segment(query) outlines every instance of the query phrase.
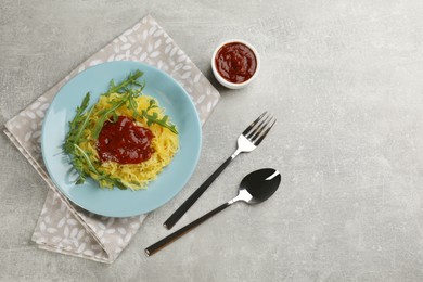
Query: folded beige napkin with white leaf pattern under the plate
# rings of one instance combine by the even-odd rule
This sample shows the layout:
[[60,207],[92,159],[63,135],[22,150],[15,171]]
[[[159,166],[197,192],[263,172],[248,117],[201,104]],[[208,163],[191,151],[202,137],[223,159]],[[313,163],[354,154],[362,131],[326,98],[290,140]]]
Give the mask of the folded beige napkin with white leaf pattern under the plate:
[[53,184],[41,156],[42,119],[60,88],[87,67],[123,60],[144,62],[172,76],[190,94],[203,124],[219,100],[219,93],[206,77],[148,15],[10,119],[5,124],[5,134],[50,188],[33,235],[33,241],[40,248],[111,264],[128,245],[145,218],[145,215],[101,217],[74,205]]

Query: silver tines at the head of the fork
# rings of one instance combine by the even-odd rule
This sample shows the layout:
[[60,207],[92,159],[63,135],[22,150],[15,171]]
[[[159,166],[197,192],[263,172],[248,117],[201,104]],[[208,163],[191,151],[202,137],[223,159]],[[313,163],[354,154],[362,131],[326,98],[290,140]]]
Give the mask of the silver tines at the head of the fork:
[[277,123],[277,119],[266,111],[242,134],[255,145],[258,145],[273,127],[274,123]]

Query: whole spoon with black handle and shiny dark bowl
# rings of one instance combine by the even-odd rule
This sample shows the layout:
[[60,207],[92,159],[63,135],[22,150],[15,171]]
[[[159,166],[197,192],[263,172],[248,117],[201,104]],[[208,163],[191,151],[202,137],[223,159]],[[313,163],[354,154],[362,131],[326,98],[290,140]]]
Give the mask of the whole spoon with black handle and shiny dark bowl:
[[277,192],[279,184],[281,183],[281,175],[273,168],[262,168],[253,171],[244,177],[239,188],[239,194],[231,201],[220,205],[219,207],[208,211],[204,216],[197,218],[183,228],[175,231],[170,235],[162,239],[157,243],[145,248],[145,255],[151,256],[157,253],[163,247],[172,243],[177,239],[181,238],[195,227],[206,221],[211,216],[229,207],[233,203],[244,202],[248,205],[259,204],[268,200],[274,192]]

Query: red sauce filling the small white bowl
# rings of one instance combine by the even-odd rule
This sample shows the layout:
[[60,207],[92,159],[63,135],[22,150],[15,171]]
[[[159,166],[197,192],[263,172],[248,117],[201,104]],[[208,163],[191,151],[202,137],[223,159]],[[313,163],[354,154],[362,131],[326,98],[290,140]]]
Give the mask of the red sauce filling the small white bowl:
[[216,69],[229,82],[242,84],[254,75],[257,59],[252,49],[241,42],[222,46],[216,53]]

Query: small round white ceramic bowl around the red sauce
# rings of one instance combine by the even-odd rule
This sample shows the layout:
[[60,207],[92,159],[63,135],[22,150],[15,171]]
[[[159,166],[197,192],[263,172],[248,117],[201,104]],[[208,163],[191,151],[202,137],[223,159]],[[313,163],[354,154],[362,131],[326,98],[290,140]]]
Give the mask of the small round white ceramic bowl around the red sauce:
[[[217,70],[216,61],[215,61],[216,54],[220,50],[220,48],[222,48],[225,44],[235,43],[235,42],[240,42],[240,43],[248,47],[253,51],[254,55],[256,56],[256,63],[257,63],[256,70],[254,72],[253,76],[248,80],[245,80],[244,82],[241,82],[241,84],[231,82],[231,81],[228,81],[227,79],[225,79]],[[216,48],[215,52],[211,55],[211,69],[213,69],[213,74],[215,75],[215,77],[216,77],[217,81],[219,81],[219,84],[221,84],[222,86],[230,88],[230,89],[241,89],[241,88],[244,88],[247,85],[249,85],[257,77],[258,72],[260,70],[260,57],[258,55],[257,50],[251,43],[248,43],[244,40],[241,40],[241,39],[231,39],[231,40],[222,42],[221,44],[219,44]]]

